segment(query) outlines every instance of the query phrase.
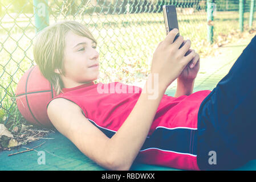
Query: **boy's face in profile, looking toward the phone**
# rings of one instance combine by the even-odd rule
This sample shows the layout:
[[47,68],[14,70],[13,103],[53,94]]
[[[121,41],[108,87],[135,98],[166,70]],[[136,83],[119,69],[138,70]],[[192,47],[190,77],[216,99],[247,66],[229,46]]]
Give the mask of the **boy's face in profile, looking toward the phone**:
[[71,88],[82,85],[84,82],[94,81],[99,76],[99,52],[96,43],[84,36],[67,32],[64,47],[65,76],[61,76],[64,86]]

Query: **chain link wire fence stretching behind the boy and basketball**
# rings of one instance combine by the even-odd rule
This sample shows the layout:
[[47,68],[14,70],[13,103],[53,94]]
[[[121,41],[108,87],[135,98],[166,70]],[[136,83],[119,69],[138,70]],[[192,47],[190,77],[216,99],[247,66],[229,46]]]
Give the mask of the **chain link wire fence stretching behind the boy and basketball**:
[[[207,2],[214,5],[212,10],[216,12],[212,23],[208,20]],[[239,2],[0,0],[0,123],[14,127],[14,123],[22,119],[14,92],[23,73],[35,65],[32,46],[36,32],[48,24],[67,19],[86,24],[97,40],[100,53],[97,82],[120,81],[136,85],[149,74],[153,52],[166,36],[163,5],[176,5],[180,34],[192,40],[192,48],[198,53],[207,55],[208,27],[214,27],[214,43],[220,41],[218,35],[229,35],[237,30]],[[255,10],[252,2],[243,1],[245,22],[251,19],[251,9]],[[44,18],[40,19],[42,14]]]

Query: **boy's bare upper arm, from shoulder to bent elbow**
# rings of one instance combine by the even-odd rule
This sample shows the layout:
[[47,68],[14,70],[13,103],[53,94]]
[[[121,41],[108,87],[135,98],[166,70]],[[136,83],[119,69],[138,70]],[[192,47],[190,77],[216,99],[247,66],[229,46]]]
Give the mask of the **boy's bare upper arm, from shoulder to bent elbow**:
[[55,98],[48,105],[47,114],[55,128],[84,155],[101,167],[116,168],[107,153],[109,138],[84,117],[78,105],[64,98]]

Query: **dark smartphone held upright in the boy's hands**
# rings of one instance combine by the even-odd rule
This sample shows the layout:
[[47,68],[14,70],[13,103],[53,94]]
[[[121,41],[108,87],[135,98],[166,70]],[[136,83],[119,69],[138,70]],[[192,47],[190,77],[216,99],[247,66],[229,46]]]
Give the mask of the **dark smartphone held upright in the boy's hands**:
[[[169,31],[173,30],[173,28],[178,29],[176,7],[174,5],[164,5],[162,6],[162,12],[164,13],[164,23],[165,23],[165,30],[167,35]],[[173,42],[178,38],[178,36],[180,36],[180,33],[176,35]]]

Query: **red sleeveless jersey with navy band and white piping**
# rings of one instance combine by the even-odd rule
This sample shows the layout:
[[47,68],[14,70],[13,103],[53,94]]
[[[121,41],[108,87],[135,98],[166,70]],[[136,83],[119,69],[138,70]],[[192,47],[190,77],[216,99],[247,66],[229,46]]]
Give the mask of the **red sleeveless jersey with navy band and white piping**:
[[[111,138],[131,113],[142,89],[121,82],[91,82],[63,88],[62,91],[48,104],[55,98],[74,102],[88,121]],[[201,102],[210,92],[202,90],[177,98],[164,94],[135,162],[198,170],[195,146],[197,114]]]

